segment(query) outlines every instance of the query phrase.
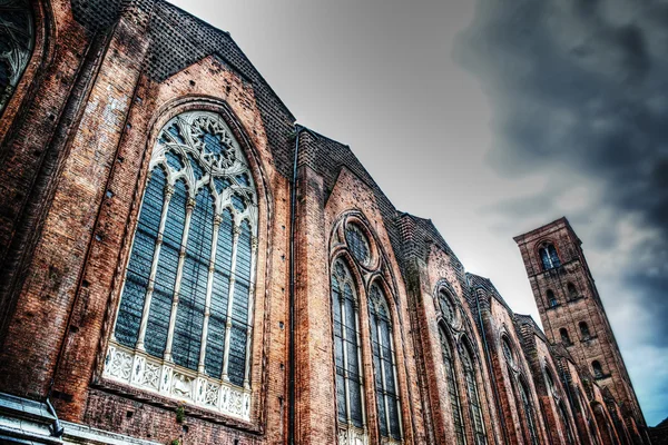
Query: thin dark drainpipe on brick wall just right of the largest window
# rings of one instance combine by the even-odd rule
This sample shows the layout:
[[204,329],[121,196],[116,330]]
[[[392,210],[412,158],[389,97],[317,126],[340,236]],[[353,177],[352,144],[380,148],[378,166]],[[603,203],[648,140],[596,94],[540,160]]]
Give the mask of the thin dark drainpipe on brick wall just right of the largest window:
[[287,443],[295,443],[295,219],[297,207],[297,160],[299,156],[299,135],[304,127],[295,125],[295,156],[289,197],[289,376],[287,379]]

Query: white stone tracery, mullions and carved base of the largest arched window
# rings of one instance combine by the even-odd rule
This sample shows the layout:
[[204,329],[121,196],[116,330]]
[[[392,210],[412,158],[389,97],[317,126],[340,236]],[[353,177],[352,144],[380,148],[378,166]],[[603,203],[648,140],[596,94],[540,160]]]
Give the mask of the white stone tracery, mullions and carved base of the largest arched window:
[[[144,189],[141,205],[139,206],[138,226],[141,224],[141,211],[155,171],[161,171],[166,176],[166,186],[163,190],[164,201],[157,230],[159,235],[151,250],[149,285],[141,304],[141,322],[139,323],[137,342],[134,348],[119,343],[116,338],[116,329],[127,287],[127,275],[124,273],[126,278],[124,278],[120,288],[119,310],[116,313],[116,323],[107,348],[102,375],[106,378],[155,392],[169,398],[249,421],[258,231],[256,178],[253,167],[248,162],[250,154],[242,148],[226,118],[218,110],[214,111],[214,106],[195,107],[197,106],[191,105],[187,108],[186,106],[179,106],[180,109],[186,109],[186,111],[171,115],[173,117],[168,118],[166,122],[163,120],[161,122],[165,123],[155,138],[146,178],[147,186]],[[225,116],[227,117],[228,113]],[[175,130],[170,132],[171,129]],[[176,161],[175,156],[180,160]],[[218,181],[220,178],[228,178],[229,180],[223,185],[222,181]],[[149,295],[155,291],[158,283],[160,283],[160,277],[157,275],[159,275],[161,267],[161,250],[166,245],[167,235],[165,230],[170,219],[169,208],[170,206],[174,207],[171,202],[175,195],[178,196],[177,189],[179,187],[185,190],[185,220],[180,241],[175,241],[175,247],[178,250],[178,266],[175,284],[170,285],[173,286],[170,287],[173,300],[169,308],[167,342],[163,356],[157,357],[145,347],[148,338],[153,337],[153,335],[149,335],[149,325],[154,306]],[[199,255],[203,250],[190,251],[190,244],[188,243],[195,237],[188,231],[193,231],[194,227],[198,227],[196,224],[199,224],[194,221],[197,218],[202,219],[202,212],[198,212],[197,208],[198,199],[204,196],[203,194],[213,199],[210,214],[208,210],[205,212],[205,228],[199,228],[199,230],[207,231],[206,226],[213,226],[209,227],[210,235],[205,236],[206,243],[203,244],[204,246],[210,246],[210,249],[205,250],[208,257],[207,255]],[[227,322],[224,322],[224,327],[219,329],[223,333],[219,333],[220,335],[216,339],[210,337],[214,335],[210,320],[216,316],[216,308],[213,307],[215,305],[212,300],[215,275],[219,271],[217,265],[218,254],[227,251],[220,249],[219,246],[223,237],[220,227],[224,225],[226,212],[230,215],[228,235],[232,239],[229,247],[232,251],[228,251],[228,256],[232,257],[232,265],[228,266],[229,270],[227,271],[228,281],[225,290],[227,299],[224,305]],[[131,253],[135,251],[138,230],[137,227],[130,244]],[[239,246],[244,246],[243,249]],[[240,254],[242,251],[243,254]],[[184,304],[183,298],[179,298],[179,293],[181,291],[180,287],[184,286],[184,279],[186,279],[184,270],[187,267],[188,257],[193,258],[190,261],[200,263],[200,266],[197,266],[197,274],[202,276],[203,280],[199,290],[188,285],[190,286],[189,290],[195,296],[194,298],[200,298],[203,294],[205,295],[199,307],[190,310],[197,313],[197,317],[200,316],[200,322],[196,322],[196,329],[200,333],[200,336],[196,345],[197,349],[194,349],[193,353],[198,352],[195,366],[175,364],[171,354],[175,337],[179,335],[177,318],[179,317],[180,305]],[[129,256],[126,271],[130,268],[132,254]],[[180,322],[181,327],[186,326],[188,330],[191,330],[193,317],[187,317],[186,309],[183,313],[186,314],[186,319]],[[209,352],[212,345],[218,345],[219,348],[222,346],[223,349],[220,375],[209,375],[210,364],[207,363],[207,356],[213,354],[213,350]],[[233,363],[234,374],[232,373]]]

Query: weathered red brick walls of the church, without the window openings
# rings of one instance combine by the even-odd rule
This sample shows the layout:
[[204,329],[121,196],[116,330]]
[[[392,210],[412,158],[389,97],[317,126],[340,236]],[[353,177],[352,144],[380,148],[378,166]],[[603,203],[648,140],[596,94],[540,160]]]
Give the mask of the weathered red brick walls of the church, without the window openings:
[[[0,121],[0,393],[52,403],[66,443],[79,427],[163,444],[337,443],[338,258],[360,297],[367,443],[392,443],[379,428],[371,284],[387,296],[401,443],[451,444],[458,434],[470,444],[640,443],[640,408],[620,383],[621,356],[567,224],[554,243],[573,257],[562,268],[586,295],[553,309],[561,318],[538,297],[548,279],[532,273],[541,237],[521,243],[543,334],[466,274],[431,221],[395,209],[347,146],[295,126],[226,32],[159,0],[30,7],[35,50]],[[223,118],[257,191],[247,418],[105,374],[151,152],[165,123],[191,110]],[[367,238],[369,265],[351,254],[350,225]],[[605,326],[593,355],[557,334],[583,313]],[[582,365],[591,357],[611,377],[593,379]],[[2,428],[2,438],[19,435]]]

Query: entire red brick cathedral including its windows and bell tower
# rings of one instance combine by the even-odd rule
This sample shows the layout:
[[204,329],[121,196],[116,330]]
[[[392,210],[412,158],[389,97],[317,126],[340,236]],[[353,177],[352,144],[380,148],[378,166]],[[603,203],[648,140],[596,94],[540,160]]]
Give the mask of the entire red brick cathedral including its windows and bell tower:
[[161,0],[0,1],[0,442],[648,444],[580,240],[544,332]]

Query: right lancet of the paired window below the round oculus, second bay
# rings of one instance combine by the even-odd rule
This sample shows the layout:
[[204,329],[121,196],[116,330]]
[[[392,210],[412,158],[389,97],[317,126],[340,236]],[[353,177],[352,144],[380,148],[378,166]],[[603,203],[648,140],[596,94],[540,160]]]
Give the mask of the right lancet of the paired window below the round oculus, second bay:
[[376,406],[381,436],[401,441],[401,403],[396,380],[396,358],[392,320],[385,294],[377,284],[369,291],[369,322],[375,375]]

